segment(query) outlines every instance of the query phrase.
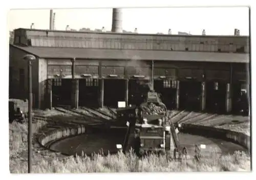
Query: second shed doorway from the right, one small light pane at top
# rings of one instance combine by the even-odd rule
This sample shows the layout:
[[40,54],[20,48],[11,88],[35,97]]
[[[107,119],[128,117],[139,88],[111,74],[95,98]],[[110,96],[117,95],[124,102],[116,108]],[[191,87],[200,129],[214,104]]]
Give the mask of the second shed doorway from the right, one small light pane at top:
[[226,112],[226,90],[224,82],[206,82],[206,111],[211,113]]

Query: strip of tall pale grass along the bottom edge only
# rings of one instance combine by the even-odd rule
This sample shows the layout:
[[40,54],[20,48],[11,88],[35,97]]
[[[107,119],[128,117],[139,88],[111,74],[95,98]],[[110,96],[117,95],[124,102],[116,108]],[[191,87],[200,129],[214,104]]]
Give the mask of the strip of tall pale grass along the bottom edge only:
[[[114,156],[68,158],[65,161],[53,159],[51,162],[41,159],[33,166],[34,173],[85,173],[85,172],[177,172],[177,171],[250,171],[249,158],[244,153],[233,156],[214,157],[200,163],[167,162],[164,157],[150,156],[142,160],[130,153]],[[13,173],[26,173],[26,166],[18,166]]]

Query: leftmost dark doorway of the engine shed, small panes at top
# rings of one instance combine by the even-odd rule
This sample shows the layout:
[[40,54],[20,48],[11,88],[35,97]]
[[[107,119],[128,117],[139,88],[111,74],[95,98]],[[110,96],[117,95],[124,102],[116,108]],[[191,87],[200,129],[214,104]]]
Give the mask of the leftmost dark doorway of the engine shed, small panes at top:
[[70,79],[54,79],[52,81],[52,105],[71,106],[72,81]]

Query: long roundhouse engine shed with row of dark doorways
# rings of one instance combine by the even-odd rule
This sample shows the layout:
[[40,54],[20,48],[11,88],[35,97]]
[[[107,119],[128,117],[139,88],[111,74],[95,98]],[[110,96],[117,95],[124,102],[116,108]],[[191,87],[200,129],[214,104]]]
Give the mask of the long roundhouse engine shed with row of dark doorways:
[[249,101],[248,36],[182,36],[17,29],[10,44],[10,98],[33,106],[117,107],[135,104],[151,82],[168,109],[236,112]]

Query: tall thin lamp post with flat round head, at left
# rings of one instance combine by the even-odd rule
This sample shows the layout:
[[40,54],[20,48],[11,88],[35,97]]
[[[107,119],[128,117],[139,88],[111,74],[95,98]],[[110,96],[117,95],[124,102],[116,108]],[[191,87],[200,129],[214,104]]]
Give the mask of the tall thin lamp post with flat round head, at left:
[[28,61],[28,86],[29,86],[29,124],[28,124],[28,173],[32,170],[32,61],[36,58],[34,55],[26,55],[23,57]]

